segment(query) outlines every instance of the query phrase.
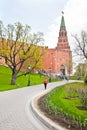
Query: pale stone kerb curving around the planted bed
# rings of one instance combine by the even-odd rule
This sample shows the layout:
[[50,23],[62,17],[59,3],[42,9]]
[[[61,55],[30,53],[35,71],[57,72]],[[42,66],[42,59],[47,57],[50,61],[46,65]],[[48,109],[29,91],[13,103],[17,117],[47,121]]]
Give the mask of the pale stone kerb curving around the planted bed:
[[50,90],[46,90],[44,93],[34,97],[30,103],[31,105],[31,109],[33,111],[33,113],[35,114],[35,116],[45,125],[47,126],[50,130],[67,130],[66,128],[54,123],[51,119],[49,119],[48,117],[46,117],[44,115],[44,113],[39,109],[37,102],[39,100],[40,97],[42,97],[43,95],[47,94],[48,92],[50,92],[52,89]]

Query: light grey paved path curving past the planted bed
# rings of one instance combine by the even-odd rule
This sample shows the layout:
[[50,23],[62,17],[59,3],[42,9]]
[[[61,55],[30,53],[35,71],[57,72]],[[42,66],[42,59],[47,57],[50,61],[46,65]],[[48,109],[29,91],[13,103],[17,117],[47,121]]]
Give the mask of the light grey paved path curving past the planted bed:
[[[66,81],[49,83],[47,89]],[[42,93],[44,86],[36,85],[0,92],[0,130],[49,130],[32,113],[30,101]]]

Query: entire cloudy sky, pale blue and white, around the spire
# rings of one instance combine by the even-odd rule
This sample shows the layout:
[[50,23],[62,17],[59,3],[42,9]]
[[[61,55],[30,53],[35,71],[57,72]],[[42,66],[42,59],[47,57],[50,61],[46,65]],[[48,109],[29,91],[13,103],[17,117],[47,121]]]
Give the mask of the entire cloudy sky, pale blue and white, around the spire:
[[45,45],[57,45],[57,37],[64,11],[70,46],[71,34],[87,29],[87,0],[0,0],[0,20],[4,24],[29,24],[34,32],[43,32]]

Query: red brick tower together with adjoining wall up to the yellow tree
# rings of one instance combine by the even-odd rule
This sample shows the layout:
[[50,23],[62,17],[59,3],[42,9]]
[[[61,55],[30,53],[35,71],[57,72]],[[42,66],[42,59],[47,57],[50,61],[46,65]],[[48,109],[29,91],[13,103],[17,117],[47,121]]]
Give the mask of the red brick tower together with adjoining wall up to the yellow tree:
[[56,48],[47,49],[43,56],[44,70],[60,74],[72,73],[72,52],[69,46],[64,16],[62,15]]

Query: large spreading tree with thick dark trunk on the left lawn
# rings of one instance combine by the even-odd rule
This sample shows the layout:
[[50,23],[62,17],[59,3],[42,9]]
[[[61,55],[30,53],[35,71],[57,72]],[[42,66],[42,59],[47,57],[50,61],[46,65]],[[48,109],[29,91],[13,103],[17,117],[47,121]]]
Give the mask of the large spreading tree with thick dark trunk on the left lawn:
[[[19,22],[4,27],[3,22],[0,21],[0,56],[4,58],[5,64],[12,70],[12,85],[16,83],[18,77],[25,74],[19,74],[21,68],[26,61],[31,64],[31,59],[35,59],[37,53],[37,45],[43,43],[43,34],[40,32],[32,34],[30,30],[29,25],[23,26]],[[36,58],[37,62],[33,63],[33,69],[39,63],[41,55],[39,53],[39,59]]]

